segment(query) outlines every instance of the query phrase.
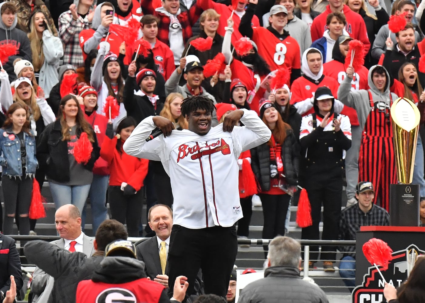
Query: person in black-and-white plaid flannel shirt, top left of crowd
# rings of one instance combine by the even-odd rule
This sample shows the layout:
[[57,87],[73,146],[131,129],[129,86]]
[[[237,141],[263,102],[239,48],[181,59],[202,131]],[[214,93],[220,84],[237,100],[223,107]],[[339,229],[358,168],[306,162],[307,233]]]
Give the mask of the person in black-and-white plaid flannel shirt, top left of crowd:
[[59,38],[64,45],[64,65],[79,67],[84,63],[78,35],[82,30],[90,28],[94,14],[93,3],[93,0],[78,1],[77,6],[71,4],[69,10],[59,16]]

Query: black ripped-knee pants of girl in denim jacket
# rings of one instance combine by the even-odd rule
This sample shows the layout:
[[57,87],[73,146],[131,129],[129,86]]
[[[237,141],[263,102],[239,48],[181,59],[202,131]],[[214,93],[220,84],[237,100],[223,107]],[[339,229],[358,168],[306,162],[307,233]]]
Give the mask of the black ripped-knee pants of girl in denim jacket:
[[[8,215],[19,214],[27,215],[26,217],[18,216],[19,223],[23,222],[23,227],[20,228],[21,235],[29,234],[29,206],[31,204],[31,194],[32,194],[32,179],[25,178],[9,178],[8,176],[3,176],[1,180],[1,185],[3,188],[4,195],[4,226],[3,232],[5,235],[10,235],[13,227],[13,218]],[[27,222],[28,221],[28,222]],[[19,228],[19,227],[18,227]]]

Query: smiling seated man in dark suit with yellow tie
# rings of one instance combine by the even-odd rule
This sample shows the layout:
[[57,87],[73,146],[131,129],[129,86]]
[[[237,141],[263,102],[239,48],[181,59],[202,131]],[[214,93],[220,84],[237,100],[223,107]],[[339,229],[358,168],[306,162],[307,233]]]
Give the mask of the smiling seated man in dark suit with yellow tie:
[[[171,228],[173,227],[173,211],[167,205],[156,204],[150,208],[147,221],[150,228],[155,232],[155,236],[138,244],[136,255],[139,260],[144,261],[144,271],[147,277],[168,287],[168,263],[166,261]],[[161,244],[162,242],[164,244]],[[164,248],[162,248],[163,246]],[[162,255],[162,263],[160,255]]]

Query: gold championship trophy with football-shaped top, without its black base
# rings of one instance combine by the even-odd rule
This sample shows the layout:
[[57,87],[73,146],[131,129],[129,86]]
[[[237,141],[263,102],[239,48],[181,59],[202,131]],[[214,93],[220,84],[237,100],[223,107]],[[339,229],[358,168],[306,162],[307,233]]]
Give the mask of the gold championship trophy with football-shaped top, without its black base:
[[397,179],[402,184],[412,183],[419,120],[419,110],[409,99],[398,98],[391,106]]

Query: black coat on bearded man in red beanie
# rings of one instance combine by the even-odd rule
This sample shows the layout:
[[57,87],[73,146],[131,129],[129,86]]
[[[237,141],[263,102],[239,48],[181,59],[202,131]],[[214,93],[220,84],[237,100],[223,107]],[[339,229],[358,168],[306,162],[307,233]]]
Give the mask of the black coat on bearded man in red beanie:
[[133,117],[139,124],[146,117],[159,115],[164,108],[164,102],[159,98],[156,101],[155,108],[147,96],[136,96],[134,94],[136,87],[136,77],[128,76],[125,80],[123,103],[127,116]]

